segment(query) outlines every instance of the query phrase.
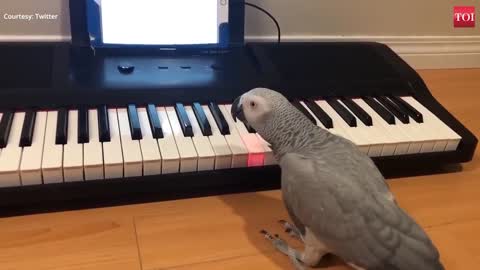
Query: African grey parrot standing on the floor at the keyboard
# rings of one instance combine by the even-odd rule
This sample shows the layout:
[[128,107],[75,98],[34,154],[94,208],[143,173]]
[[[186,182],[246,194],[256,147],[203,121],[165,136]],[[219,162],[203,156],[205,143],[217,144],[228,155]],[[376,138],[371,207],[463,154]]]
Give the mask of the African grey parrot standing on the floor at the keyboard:
[[318,265],[326,253],[355,269],[444,269],[427,234],[351,141],[316,126],[282,94],[266,88],[239,96],[231,114],[271,145],[281,168],[282,198],[293,224],[281,223],[305,249],[262,233],[297,269]]

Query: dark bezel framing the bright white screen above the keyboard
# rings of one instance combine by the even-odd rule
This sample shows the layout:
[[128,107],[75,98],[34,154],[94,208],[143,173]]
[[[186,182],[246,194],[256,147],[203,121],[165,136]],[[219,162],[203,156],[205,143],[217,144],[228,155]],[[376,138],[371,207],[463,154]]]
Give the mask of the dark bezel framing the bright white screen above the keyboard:
[[[74,0],[73,0],[74,1]],[[238,23],[231,22],[231,19],[238,19],[238,14],[242,14],[242,18],[244,15],[244,9],[238,9],[238,4],[241,2],[243,6],[243,1],[238,0],[217,0],[217,12],[218,12],[218,42],[217,43],[209,43],[209,44],[112,44],[112,43],[103,43],[102,40],[102,23],[101,23],[101,11],[100,7],[96,3],[95,0],[84,0],[85,6],[83,7],[84,16],[76,16],[72,17],[73,19],[79,19],[78,17],[84,18],[84,26],[86,29],[82,29],[79,34],[87,35],[88,38],[88,46],[93,48],[220,48],[225,49],[232,45],[232,41],[235,42],[239,40],[238,34],[241,32],[241,42],[243,43],[243,27],[238,29]],[[70,1],[72,2],[72,0]],[[82,1],[77,1],[82,2]],[[225,3],[225,4],[223,4]],[[232,9],[232,6],[237,6],[235,9]],[[82,9],[80,8],[80,11]],[[70,7],[70,11],[72,12],[72,7]],[[78,11],[78,9],[77,9]],[[233,13],[232,13],[233,11]],[[223,16],[220,16],[223,14]],[[243,22],[243,19],[242,19]],[[73,23],[73,21],[72,21]],[[82,23],[77,22],[77,25],[82,25]],[[235,26],[237,29],[232,29],[232,26]],[[77,26],[76,29],[79,27]],[[72,24],[72,41],[73,41],[73,29],[74,25]],[[239,31],[240,30],[240,31]],[[233,34],[233,36],[232,36]],[[85,39],[83,43],[85,43]],[[84,44],[86,45],[86,44]]]

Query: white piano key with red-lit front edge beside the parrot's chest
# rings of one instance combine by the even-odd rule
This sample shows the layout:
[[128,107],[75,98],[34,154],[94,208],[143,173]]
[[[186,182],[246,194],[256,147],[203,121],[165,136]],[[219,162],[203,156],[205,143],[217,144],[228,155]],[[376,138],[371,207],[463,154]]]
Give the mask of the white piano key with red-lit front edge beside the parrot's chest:
[[[232,105],[227,104],[225,105],[225,108],[230,112]],[[242,138],[244,145],[248,149],[248,167],[263,166],[265,161],[265,149],[258,139],[257,134],[249,133],[242,121],[238,119],[234,123],[240,138]]]

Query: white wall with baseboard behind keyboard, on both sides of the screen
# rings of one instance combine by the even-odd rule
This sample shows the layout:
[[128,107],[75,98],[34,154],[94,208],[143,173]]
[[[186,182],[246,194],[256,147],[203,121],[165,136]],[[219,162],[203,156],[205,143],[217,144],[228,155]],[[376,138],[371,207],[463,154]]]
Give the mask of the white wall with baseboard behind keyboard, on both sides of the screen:
[[[68,0],[0,0],[0,40],[69,39]],[[79,0],[80,1],[80,0]],[[480,67],[478,0],[249,0],[278,19],[285,40],[374,40],[418,68]],[[453,27],[453,6],[476,6],[475,28]],[[57,14],[9,21],[4,14]],[[247,7],[248,39],[274,39],[268,17]]]

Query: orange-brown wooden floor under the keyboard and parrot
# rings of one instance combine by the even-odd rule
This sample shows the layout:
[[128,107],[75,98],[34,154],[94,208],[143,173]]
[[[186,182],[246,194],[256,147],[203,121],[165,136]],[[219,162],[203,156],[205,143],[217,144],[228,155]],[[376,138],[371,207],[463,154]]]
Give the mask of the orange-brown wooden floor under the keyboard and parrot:
[[[480,70],[420,74],[479,136]],[[389,181],[450,270],[480,265],[479,152],[461,172]],[[259,234],[280,233],[285,218],[278,191],[5,218],[0,269],[293,269]],[[335,259],[326,266],[349,269]]]

